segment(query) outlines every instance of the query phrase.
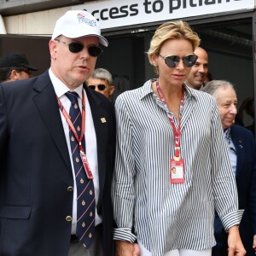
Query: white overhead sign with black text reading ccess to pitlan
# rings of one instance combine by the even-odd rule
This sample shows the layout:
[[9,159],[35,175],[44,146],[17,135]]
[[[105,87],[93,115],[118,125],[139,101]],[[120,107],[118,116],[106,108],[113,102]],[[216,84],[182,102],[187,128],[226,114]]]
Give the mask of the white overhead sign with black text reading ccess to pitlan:
[[89,11],[102,29],[253,8],[254,0],[106,0],[72,7]]

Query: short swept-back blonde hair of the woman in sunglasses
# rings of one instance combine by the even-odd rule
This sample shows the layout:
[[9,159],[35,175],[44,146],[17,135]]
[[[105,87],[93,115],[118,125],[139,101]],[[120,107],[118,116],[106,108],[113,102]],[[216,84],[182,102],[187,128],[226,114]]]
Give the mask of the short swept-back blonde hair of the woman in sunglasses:
[[[161,46],[168,39],[186,39],[192,44],[193,50],[199,46],[201,39],[196,32],[193,32],[189,24],[182,20],[169,21],[159,26],[154,32],[148,49],[148,60],[154,66],[151,60],[152,55],[159,55]],[[158,74],[158,67],[154,66],[155,73]]]

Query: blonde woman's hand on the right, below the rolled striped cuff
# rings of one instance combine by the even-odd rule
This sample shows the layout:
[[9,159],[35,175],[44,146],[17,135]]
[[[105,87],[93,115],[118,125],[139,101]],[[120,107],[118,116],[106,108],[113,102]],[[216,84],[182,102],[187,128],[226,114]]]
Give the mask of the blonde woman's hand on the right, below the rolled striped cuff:
[[233,226],[229,230],[228,237],[229,256],[244,256],[247,252],[242,245],[238,226]]

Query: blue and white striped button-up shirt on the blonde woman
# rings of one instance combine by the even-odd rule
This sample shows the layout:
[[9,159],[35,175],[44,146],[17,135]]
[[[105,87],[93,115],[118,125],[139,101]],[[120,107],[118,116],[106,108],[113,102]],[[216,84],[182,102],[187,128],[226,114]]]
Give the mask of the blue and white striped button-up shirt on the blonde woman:
[[151,80],[115,102],[114,239],[133,242],[137,237],[154,256],[176,248],[211,248],[214,210],[226,230],[240,223],[243,212],[238,211],[236,181],[216,103],[206,93],[184,88],[183,184],[170,182],[173,131]]

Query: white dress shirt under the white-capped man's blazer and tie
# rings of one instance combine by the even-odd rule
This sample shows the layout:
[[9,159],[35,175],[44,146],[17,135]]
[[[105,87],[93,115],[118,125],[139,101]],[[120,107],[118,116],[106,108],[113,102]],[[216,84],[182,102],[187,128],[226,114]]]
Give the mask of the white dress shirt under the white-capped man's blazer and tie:
[[[63,84],[60,79],[55,77],[55,74],[49,69],[49,78],[51,79],[51,82],[55,89],[56,96],[59,97],[62,106],[66,109],[67,113],[69,113],[69,108],[71,106],[70,100],[67,98],[65,93],[69,91],[70,89],[67,87],[66,84]],[[83,90],[83,84],[81,84],[79,87],[77,87],[74,91],[76,91],[79,95],[79,108],[82,109],[82,90]],[[86,148],[86,156],[90,165],[90,169],[92,172],[92,175],[94,177],[93,183],[94,183],[94,189],[95,189],[95,195],[96,195],[96,205],[98,202],[99,194],[100,194],[100,184],[99,184],[99,177],[98,177],[98,161],[97,161],[97,148],[96,148],[96,131],[93,124],[93,119],[90,111],[90,104],[88,102],[88,98],[86,96],[86,92],[84,90],[84,98],[85,98],[85,131],[84,131],[84,138],[85,138],[85,148]],[[65,137],[67,140],[67,148],[68,153],[70,157],[70,161],[72,163],[72,171],[73,171],[73,218],[72,218],[72,234],[75,234],[76,227],[77,227],[77,185],[76,185],[76,179],[73,169],[73,157],[71,153],[71,147],[69,143],[69,126],[67,124],[67,120],[65,119],[64,115],[61,114],[61,120],[63,129],[65,132]],[[95,219],[95,225],[102,223],[102,218],[97,214],[96,211],[96,219]]]

